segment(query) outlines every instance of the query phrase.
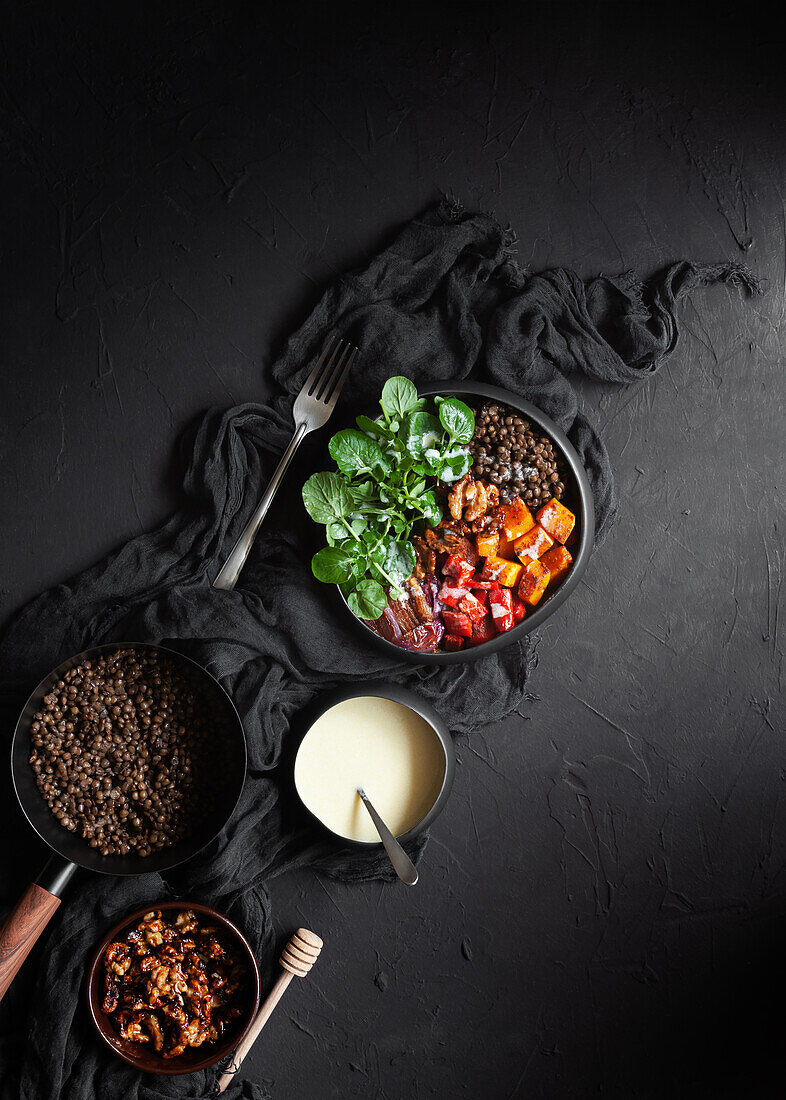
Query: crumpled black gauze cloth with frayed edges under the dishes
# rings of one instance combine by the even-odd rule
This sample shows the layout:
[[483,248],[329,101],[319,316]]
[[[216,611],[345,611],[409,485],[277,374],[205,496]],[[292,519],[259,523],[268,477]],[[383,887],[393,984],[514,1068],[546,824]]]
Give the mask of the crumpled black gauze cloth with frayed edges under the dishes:
[[[337,332],[361,350],[332,422],[314,437],[315,469],[330,466],[331,432],[352,424],[356,411],[373,410],[390,375],[416,382],[477,376],[521,394],[567,432],[595,494],[599,544],[617,509],[613,479],[602,441],[578,410],[569,374],[641,381],[675,346],[679,298],[719,280],[755,289],[748,272],[733,264],[679,263],[647,286],[630,276],[584,283],[563,270],[529,275],[516,266],[512,244],[510,231],[494,218],[465,215],[447,201],[408,224],[365,271],[339,279],[291,337],[273,369],[284,391],[273,407],[248,404],[206,414],[190,437],[182,510],[40,596],[11,624],[0,645],[7,697],[23,697],[60,661],[101,642],[146,640],[187,652],[234,698],[250,769],[221,838],[165,881],[157,875],[106,879],[82,872],[71,880],[44,933],[43,957],[29,961],[32,972],[23,972],[2,1005],[3,1100],[210,1094],[214,1071],[137,1074],[91,1031],[85,966],[124,913],[170,894],[208,902],[226,912],[270,964],[266,883],[274,876],[305,865],[344,880],[389,873],[377,855],[331,845],[291,804],[288,761],[277,765],[292,721],[317,693],[370,675],[389,679],[433,703],[455,733],[496,722],[522,702],[533,666],[531,637],[449,668],[413,668],[369,648],[335,591],[311,576],[321,529],[305,515],[302,479],[295,471],[279,493],[286,504],[268,517],[237,588],[211,587],[291,436],[292,395],[328,336]],[[12,728],[7,722],[5,729]],[[19,886],[2,883],[7,908]],[[268,1094],[242,1077],[241,1070],[229,1098]]]

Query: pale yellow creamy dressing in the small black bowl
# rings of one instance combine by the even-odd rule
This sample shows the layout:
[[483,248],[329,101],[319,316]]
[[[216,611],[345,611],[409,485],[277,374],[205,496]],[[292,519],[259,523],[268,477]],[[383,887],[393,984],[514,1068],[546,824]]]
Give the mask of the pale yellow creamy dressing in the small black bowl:
[[358,787],[400,836],[425,817],[444,774],[445,752],[429,723],[401,703],[370,695],[325,711],[295,761],[295,785],[306,807],[350,840],[379,839]]

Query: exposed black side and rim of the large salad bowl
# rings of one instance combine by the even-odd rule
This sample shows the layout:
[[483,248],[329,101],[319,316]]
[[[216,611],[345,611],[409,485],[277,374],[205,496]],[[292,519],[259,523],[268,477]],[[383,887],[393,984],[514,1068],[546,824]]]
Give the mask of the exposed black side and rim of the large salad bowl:
[[562,497],[562,503],[576,517],[576,526],[571,536],[569,544],[569,550],[573,554],[573,565],[565,580],[551,594],[546,590],[546,594],[535,609],[528,612],[527,617],[518,626],[514,626],[505,634],[498,634],[496,638],[485,641],[481,646],[460,649],[451,653],[417,653],[409,649],[401,649],[386,638],[380,638],[369,626],[366,626],[363,619],[357,618],[350,610],[350,605],[343,592],[339,588],[339,595],[346,608],[346,614],[357,625],[358,630],[363,631],[369,645],[375,646],[377,649],[384,649],[391,658],[406,661],[409,664],[458,664],[462,661],[474,661],[478,657],[487,657],[489,653],[496,653],[514,641],[521,641],[524,635],[528,635],[531,630],[536,630],[538,627],[542,626],[565,603],[580,581],[593,551],[593,539],[595,537],[593,491],[589,487],[589,481],[582,465],[582,460],[565,432],[545,413],[525,402],[523,397],[511,394],[509,389],[500,389],[498,386],[487,386],[483,382],[436,382],[428,386],[418,386],[418,393],[422,397],[429,397],[433,394],[445,394],[453,397],[468,398],[471,404],[477,404],[477,398],[500,402],[527,417],[531,424],[536,425],[538,428],[549,436],[558,452],[558,457],[564,462],[565,493]]

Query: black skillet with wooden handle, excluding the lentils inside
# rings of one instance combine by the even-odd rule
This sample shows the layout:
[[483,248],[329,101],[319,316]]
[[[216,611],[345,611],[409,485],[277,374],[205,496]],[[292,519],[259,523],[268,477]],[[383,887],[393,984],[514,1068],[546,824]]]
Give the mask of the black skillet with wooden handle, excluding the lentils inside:
[[[146,649],[166,653],[178,663],[188,666],[197,680],[201,681],[204,691],[218,693],[226,706],[226,735],[217,740],[214,757],[217,773],[221,773],[224,780],[217,784],[217,789],[221,792],[220,799],[212,811],[199,821],[190,835],[170,848],[145,857],[102,856],[95,848],[90,848],[81,837],[63,828],[38,793],[33,769],[29,762],[30,727],[44,695],[48,695],[57,681],[76,664],[119,649]],[[150,871],[167,871],[185,862],[215,839],[232,816],[243,789],[245,769],[245,734],[232,700],[218,680],[182,653],[145,642],[112,642],[77,653],[49,672],[25,703],[16,723],[11,744],[11,778],[22,812],[44,844],[53,849],[54,855],[41,875],[27,887],[0,927],[0,999],[59,905],[63,890],[77,867],[101,875],[146,875]]]

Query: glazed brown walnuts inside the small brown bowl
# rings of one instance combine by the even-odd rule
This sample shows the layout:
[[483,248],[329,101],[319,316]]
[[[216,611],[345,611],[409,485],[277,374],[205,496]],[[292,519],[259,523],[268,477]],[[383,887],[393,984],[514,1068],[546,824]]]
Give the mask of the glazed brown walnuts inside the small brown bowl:
[[242,1015],[245,970],[218,930],[191,910],[145,913],[103,953],[103,1011],[121,1038],[164,1058],[215,1043]]

